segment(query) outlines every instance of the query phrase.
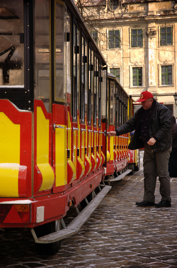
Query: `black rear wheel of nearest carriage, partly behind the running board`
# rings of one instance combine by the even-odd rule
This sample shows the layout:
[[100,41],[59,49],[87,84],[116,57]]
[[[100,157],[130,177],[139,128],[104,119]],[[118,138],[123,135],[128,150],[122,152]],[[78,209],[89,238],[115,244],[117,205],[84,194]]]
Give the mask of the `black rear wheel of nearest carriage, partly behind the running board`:
[[[34,228],[37,237],[41,237],[50,233],[54,233],[56,231],[59,231],[60,229],[61,229],[60,219]],[[53,254],[56,254],[58,250],[60,249],[61,240],[56,241],[54,243],[50,243],[50,244],[35,243],[35,245],[36,245],[36,249],[39,251],[40,254],[53,255]]]

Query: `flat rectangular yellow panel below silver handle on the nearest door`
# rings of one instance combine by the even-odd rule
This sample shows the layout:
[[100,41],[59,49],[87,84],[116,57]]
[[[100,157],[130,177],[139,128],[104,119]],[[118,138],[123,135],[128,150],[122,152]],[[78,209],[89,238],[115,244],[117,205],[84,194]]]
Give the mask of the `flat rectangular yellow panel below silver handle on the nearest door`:
[[56,186],[67,184],[67,130],[64,128],[55,129],[55,173]]

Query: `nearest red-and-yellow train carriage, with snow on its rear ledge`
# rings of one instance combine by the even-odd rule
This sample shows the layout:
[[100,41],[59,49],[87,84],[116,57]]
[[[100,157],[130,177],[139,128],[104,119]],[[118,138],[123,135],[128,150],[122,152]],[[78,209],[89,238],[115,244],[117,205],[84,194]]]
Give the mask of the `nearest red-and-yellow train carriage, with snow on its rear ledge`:
[[[73,1],[2,0],[0,21],[0,228],[30,228],[55,253],[111,188],[100,186],[106,61]],[[66,227],[71,205],[80,217]]]

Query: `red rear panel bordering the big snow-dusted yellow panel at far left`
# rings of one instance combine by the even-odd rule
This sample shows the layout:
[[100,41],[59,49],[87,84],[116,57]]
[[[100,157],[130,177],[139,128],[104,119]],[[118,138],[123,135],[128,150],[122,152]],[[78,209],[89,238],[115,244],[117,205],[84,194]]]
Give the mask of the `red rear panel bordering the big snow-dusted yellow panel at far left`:
[[[21,112],[9,100],[0,100],[0,111],[14,123],[20,124],[20,167],[18,193],[20,197],[31,196],[31,148],[32,148],[32,113]],[[23,173],[24,172],[24,173]]]

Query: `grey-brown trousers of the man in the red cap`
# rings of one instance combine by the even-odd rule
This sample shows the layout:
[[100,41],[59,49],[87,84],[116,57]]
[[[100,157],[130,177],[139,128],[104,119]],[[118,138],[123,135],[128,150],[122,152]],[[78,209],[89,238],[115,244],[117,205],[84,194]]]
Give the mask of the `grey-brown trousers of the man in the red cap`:
[[157,176],[160,181],[161,200],[171,201],[170,176],[168,161],[172,147],[161,152],[152,152],[152,147],[144,144],[143,172],[144,172],[144,198],[143,201],[155,202],[155,186]]

